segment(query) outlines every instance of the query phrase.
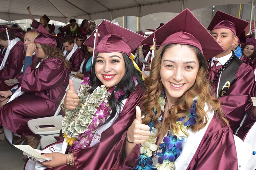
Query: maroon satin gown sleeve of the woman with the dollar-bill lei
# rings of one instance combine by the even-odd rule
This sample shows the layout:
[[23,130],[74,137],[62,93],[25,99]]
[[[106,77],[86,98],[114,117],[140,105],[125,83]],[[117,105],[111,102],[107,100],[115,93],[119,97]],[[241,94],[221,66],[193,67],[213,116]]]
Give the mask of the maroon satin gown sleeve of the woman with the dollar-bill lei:
[[122,150],[119,144],[120,139],[132,124],[135,118],[135,107],[140,105],[144,91],[144,88],[140,85],[134,88],[114,124],[101,134],[100,143],[87,149],[77,149],[74,151],[76,166],[63,165],[49,168],[49,170],[110,169]]

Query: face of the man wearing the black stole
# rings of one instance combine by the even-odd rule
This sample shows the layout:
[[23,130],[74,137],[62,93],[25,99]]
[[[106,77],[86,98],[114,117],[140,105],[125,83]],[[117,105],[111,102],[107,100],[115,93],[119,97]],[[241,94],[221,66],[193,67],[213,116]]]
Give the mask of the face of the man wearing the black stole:
[[231,53],[232,47],[236,45],[238,37],[235,34],[226,28],[219,28],[212,30],[212,37],[220,44],[220,46],[225,50],[219,55],[215,56],[220,58],[222,56],[228,55]]

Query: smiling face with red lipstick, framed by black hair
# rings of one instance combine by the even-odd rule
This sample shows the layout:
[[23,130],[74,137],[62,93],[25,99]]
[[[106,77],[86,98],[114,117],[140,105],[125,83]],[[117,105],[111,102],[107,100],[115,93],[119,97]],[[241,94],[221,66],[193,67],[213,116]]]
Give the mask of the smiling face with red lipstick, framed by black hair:
[[95,63],[95,74],[108,88],[117,85],[124,77],[125,62],[121,53],[99,53]]

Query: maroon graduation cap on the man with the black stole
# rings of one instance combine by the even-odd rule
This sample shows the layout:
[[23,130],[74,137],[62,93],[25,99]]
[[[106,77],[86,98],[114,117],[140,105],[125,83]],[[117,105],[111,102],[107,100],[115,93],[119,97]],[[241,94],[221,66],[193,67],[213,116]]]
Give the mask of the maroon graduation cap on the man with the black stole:
[[249,23],[243,19],[236,18],[225,12],[217,11],[212,22],[208,26],[208,30],[226,28],[231,30],[235,36],[240,35]]

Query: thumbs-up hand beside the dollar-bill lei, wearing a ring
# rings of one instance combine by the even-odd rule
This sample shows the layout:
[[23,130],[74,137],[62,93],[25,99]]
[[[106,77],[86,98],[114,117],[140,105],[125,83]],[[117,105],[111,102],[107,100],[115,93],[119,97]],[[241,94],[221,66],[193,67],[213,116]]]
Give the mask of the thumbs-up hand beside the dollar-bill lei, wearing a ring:
[[64,99],[64,106],[69,110],[75,110],[79,103],[79,97],[74,89],[73,81],[69,79],[69,89]]

